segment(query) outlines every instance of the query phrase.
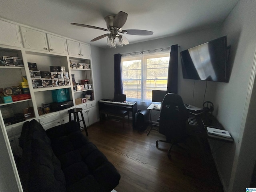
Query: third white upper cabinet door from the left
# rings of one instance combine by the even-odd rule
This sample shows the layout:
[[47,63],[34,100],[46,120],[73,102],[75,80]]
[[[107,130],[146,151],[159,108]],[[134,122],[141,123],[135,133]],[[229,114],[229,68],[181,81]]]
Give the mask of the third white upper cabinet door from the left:
[[54,53],[68,54],[66,39],[47,34],[49,51]]

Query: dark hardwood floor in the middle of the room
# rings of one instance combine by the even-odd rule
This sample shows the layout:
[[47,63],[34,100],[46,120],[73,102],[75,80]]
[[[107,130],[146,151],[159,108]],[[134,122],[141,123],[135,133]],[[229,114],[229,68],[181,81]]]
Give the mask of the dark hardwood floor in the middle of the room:
[[156,148],[164,135],[139,133],[127,120],[123,128],[122,121],[107,118],[88,127],[88,134],[120,173],[117,192],[223,192],[210,149],[200,138],[188,138],[190,156],[174,146],[169,159],[170,144],[159,142]]

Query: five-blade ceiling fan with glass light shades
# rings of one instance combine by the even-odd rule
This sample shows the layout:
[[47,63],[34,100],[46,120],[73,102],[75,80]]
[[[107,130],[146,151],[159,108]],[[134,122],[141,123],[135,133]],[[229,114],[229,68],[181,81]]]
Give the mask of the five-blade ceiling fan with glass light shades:
[[110,45],[111,48],[116,48],[116,40],[117,40],[117,46],[120,46],[120,47],[122,47],[123,45],[129,44],[128,40],[121,34],[128,34],[128,35],[152,35],[153,34],[152,31],[147,31],[147,30],[138,30],[138,29],[122,30],[122,26],[124,26],[127,20],[127,16],[128,14],[122,11],[118,12],[118,14],[116,15],[106,16],[105,21],[108,29],[85,25],[85,24],[79,24],[79,23],[71,23],[71,24],[110,32],[94,38],[93,40],[91,40],[91,42],[102,39],[107,36],[108,37],[107,45]]

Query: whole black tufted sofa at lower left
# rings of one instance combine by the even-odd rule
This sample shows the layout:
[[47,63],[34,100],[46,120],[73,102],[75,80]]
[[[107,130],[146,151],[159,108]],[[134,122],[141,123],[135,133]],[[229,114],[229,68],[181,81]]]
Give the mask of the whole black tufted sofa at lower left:
[[120,174],[72,121],[44,130],[25,122],[18,166],[24,192],[110,192]]

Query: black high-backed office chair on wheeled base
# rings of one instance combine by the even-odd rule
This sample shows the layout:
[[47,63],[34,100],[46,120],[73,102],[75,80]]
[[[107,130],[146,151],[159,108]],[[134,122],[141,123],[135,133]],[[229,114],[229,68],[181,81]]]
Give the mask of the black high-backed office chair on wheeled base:
[[[189,111],[179,95],[168,93],[164,96],[159,118],[159,132],[165,135],[166,140],[157,140],[156,147],[158,148],[158,142],[171,143],[167,153],[169,158],[173,145],[186,150],[179,143],[186,140],[186,120],[188,116]],[[188,150],[186,151],[188,152]]]

